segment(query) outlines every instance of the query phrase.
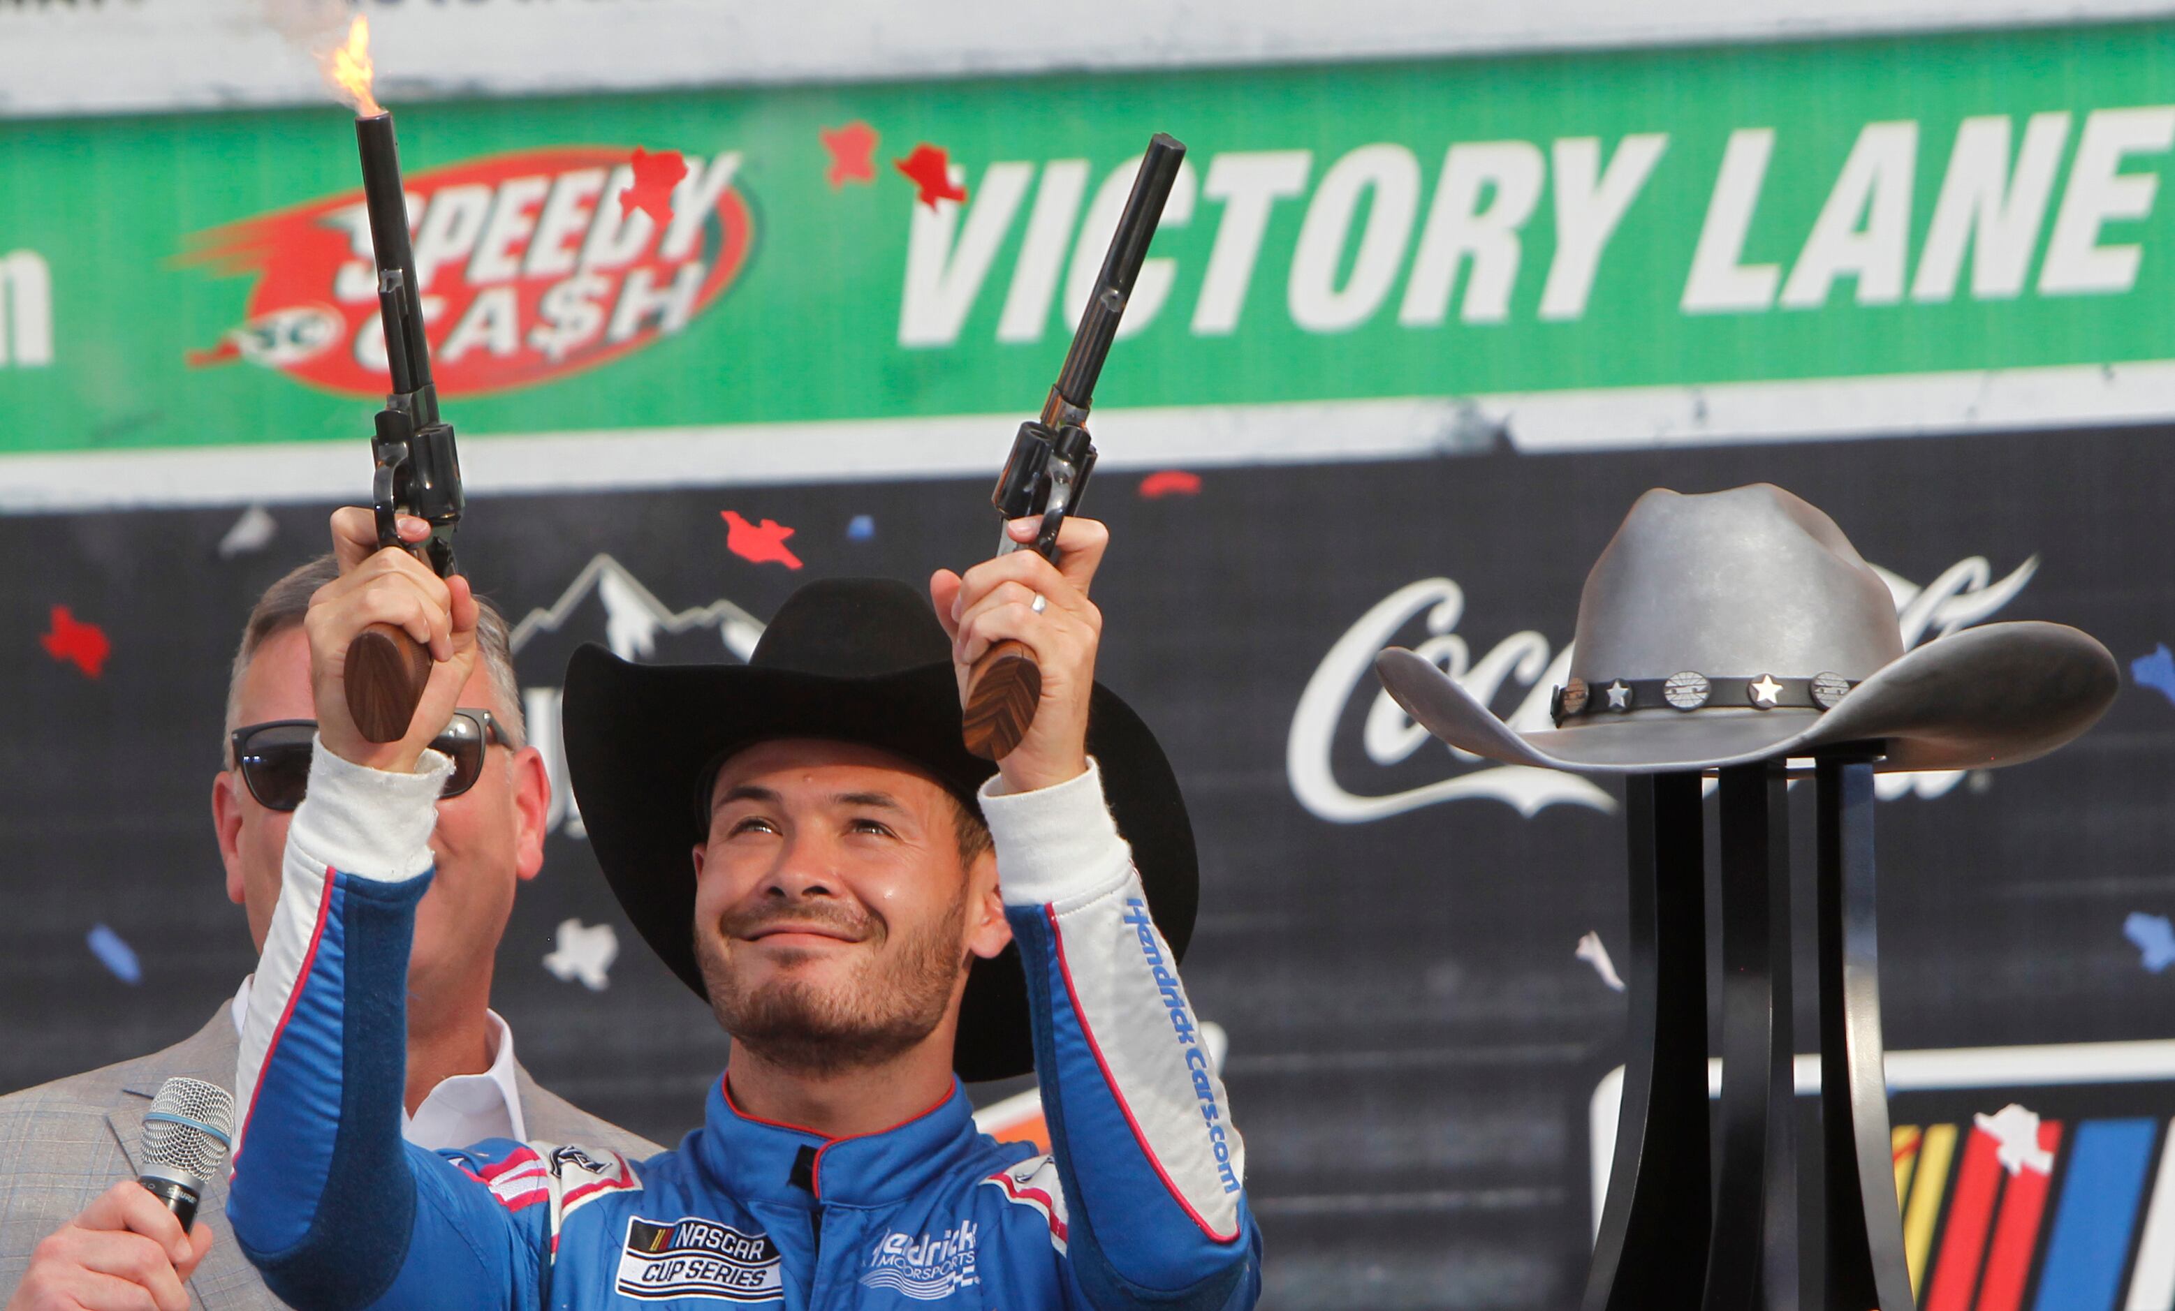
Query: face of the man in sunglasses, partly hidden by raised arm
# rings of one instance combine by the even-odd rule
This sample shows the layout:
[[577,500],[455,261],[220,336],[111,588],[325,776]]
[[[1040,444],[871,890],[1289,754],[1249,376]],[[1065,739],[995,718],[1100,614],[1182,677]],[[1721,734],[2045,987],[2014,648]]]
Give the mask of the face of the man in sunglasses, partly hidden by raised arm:
[[[461,691],[463,707],[498,713],[483,661]],[[241,676],[237,724],[313,720],[309,691],[309,637],[300,626],[257,648]],[[544,867],[544,815],[550,783],[535,748],[483,752],[483,776],[452,800],[437,802],[431,854],[437,874],[415,911],[415,948],[409,987],[415,1000],[439,996],[442,981],[489,970],[498,937],[513,911],[513,887]],[[287,811],[272,811],[250,796],[239,770],[222,770],[211,785],[211,813],[226,861],[226,898],[250,915],[250,937],[261,952],[278,902],[281,857],[287,850]]]

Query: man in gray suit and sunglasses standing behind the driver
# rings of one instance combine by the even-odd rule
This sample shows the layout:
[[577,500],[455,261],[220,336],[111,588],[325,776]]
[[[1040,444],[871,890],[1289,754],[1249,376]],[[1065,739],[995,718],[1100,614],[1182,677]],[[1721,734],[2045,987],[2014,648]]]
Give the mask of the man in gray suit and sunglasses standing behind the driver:
[[[211,785],[211,815],[226,896],[248,911],[259,950],[278,902],[287,822],[309,776],[313,698],[302,622],[311,594],[337,576],[333,557],[322,557],[265,591],[226,694],[228,752]],[[470,709],[455,717],[461,733],[439,744],[459,767],[439,802],[431,837],[437,881],[420,907],[409,961],[405,1131],[426,1148],[513,1137],[652,1157],[657,1144],[537,1087],[489,1009],[492,959],[513,891],[544,865],[550,783],[542,754],[522,744],[507,624],[489,604],[478,641],[483,661],[461,696]],[[13,1291],[9,1311],[281,1307],[226,1231],[224,1172],[187,1237],[161,1207],[146,1207],[152,1196],[135,1183],[144,1113],[159,1085],[176,1074],[233,1083],[248,991],[244,981],[233,1004],[163,1052],[0,1098],[0,1291]],[[207,1233],[215,1235],[209,1252]]]

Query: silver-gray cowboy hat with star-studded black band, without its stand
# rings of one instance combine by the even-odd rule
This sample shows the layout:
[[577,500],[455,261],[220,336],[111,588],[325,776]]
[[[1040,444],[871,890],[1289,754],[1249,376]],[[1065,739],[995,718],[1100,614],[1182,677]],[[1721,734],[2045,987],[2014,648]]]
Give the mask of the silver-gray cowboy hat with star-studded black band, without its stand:
[[2121,687],[2064,624],[1981,624],[1903,650],[1888,585],[1834,520],[1781,487],[1653,489],[1579,598],[1553,726],[1514,728],[1403,648],[1390,696],[1442,741],[1577,774],[1714,770],[1884,741],[1879,770],[1977,770],[2047,754]]

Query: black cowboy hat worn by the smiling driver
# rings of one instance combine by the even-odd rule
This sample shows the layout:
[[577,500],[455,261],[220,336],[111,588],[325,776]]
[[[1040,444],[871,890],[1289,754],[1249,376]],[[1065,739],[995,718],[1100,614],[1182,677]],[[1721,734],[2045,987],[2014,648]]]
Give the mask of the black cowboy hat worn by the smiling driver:
[[[694,957],[694,863],[709,828],[703,796],[729,754],[781,737],[887,750],[927,770],[979,813],[996,765],[959,737],[950,641],[929,598],[892,578],[826,578],[794,591],[746,665],[635,665],[583,646],[566,672],[568,774],[613,896],[666,965],[707,1000]],[[1088,750],[1148,909],[1185,957],[1201,867],[1185,798],[1164,748],[1096,683]],[[1020,948],[974,961],[959,1007],[953,1070],[1009,1078],[1035,1067]]]

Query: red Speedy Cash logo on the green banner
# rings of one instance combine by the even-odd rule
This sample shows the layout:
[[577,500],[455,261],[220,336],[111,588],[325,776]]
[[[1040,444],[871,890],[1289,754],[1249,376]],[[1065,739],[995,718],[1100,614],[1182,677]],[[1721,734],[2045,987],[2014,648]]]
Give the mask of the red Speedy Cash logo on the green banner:
[[[683,330],[739,278],[755,220],[737,152],[687,159],[672,220],[620,204],[631,148],[563,146],[405,178],[437,387],[533,387]],[[257,274],[196,367],[248,361],[326,391],[389,387],[361,187],[189,239],[185,263]]]

